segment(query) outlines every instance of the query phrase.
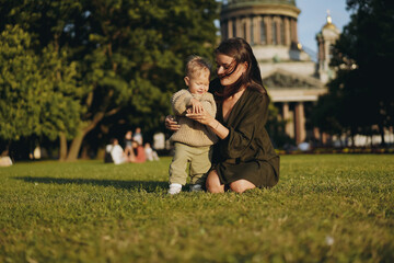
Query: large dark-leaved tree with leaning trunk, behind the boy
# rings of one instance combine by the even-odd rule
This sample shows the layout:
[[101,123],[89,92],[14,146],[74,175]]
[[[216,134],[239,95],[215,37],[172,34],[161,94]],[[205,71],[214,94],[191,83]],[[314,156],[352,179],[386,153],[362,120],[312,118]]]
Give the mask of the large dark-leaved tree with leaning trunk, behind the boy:
[[[74,160],[85,136],[103,123],[132,119],[158,128],[170,96],[183,85],[184,58],[211,57],[215,0],[2,1],[3,23],[20,24],[36,39],[78,65],[78,130],[62,156]],[[59,75],[57,75],[59,76]],[[78,89],[77,89],[78,90]],[[121,116],[121,117],[120,117]]]

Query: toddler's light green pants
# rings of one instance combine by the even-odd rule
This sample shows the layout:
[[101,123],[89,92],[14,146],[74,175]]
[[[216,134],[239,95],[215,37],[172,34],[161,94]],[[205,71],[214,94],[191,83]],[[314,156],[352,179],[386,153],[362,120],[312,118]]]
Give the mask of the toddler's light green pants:
[[175,142],[175,155],[170,164],[170,183],[186,184],[187,163],[190,162],[190,178],[193,184],[204,184],[207,172],[211,168],[211,147],[193,147]]

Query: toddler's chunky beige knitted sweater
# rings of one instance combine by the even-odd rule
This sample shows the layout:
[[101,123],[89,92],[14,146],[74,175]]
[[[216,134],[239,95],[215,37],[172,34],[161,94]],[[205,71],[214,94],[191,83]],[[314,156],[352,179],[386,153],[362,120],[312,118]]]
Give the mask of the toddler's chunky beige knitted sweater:
[[216,116],[217,106],[211,93],[197,96],[188,90],[179,90],[172,96],[171,104],[181,128],[171,136],[171,140],[194,147],[211,146],[218,141],[215,133],[204,124],[185,116],[186,110],[192,106],[192,98],[199,100],[204,110]]

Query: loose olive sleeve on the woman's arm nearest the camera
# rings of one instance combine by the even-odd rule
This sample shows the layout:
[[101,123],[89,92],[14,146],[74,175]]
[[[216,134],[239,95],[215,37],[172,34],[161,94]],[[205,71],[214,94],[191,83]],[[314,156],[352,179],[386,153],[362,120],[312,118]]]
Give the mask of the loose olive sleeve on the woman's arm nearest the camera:
[[228,125],[228,137],[220,141],[220,152],[223,158],[243,157],[254,142],[254,138],[259,133],[264,133],[268,116],[268,95],[262,94],[245,102],[239,110],[236,118]]

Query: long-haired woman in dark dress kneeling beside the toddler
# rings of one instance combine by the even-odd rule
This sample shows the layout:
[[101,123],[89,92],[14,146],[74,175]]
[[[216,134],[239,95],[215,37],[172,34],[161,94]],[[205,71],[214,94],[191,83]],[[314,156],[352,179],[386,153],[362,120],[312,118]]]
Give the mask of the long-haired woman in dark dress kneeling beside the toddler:
[[[271,187],[279,180],[279,157],[265,129],[269,98],[263,87],[259,67],[243,38],[230,38],[215,50],[218,79],[210,91],[218,103],[217,119],[207,112],[186,114],[207,125],[219,137],[206,187],[223,193],[225,186],[237,193]],[[166,118],[166,126],[176,129]]]

